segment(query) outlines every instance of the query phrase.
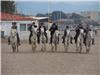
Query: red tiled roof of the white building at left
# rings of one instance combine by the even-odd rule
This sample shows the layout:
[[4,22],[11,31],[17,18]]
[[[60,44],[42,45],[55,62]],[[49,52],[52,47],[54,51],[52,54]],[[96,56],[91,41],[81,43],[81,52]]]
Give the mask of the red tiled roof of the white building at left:
[[23,17],[20,15],[12,15],[8,13],[0,13],[1,21],[26,21],[26,20],[33,20],[33,18]]

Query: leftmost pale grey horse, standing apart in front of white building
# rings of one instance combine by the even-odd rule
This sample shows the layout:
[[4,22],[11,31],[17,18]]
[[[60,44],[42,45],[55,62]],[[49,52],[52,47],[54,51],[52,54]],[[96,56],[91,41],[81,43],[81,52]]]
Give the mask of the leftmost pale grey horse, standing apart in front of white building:
[[16,52],[16,50],[18,52],[19,45],[17,42],[17,30],[16,29],[11,29],[10,42],[11,42],[13,52]]

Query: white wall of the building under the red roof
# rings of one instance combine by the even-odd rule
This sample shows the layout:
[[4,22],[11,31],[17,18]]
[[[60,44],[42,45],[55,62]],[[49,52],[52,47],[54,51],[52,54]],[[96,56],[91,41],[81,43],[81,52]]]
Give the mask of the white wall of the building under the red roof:
[[[12,26],[12,22],[13,21],[1,21],[0,26],[1,26],[1,30],[0,31],[4,31],[4,36],[6,38],[8,38],[8,36],[10,35],[10,29]],[[33,21],[16,21],[17,23],[17,30],[20,36],[21,40],[28,40],[29,34],[30,32],[28,31],[28,26],[27,24],[32,24]],[[37,22],[37,21],[34,21]],[[25,31],[20,31],[20,24],[26,24],[26,30]]]

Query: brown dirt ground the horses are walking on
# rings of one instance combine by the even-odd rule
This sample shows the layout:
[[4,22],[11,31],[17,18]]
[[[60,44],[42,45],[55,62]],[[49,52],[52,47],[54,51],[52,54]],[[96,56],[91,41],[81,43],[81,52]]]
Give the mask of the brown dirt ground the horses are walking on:
[[[100,34],[100,33],[99,33]],[[89,54],[77,53],[75,45],[70,45],[64,53],[63,44],[57,52],[51,52],[50,44],[46,51],[40,51],[40,45],[33,53],[28,41],[21,41],[19,53],[12,53],[7,41],[1,43],[2,75],[100,75],[100,36],[95,38]]]

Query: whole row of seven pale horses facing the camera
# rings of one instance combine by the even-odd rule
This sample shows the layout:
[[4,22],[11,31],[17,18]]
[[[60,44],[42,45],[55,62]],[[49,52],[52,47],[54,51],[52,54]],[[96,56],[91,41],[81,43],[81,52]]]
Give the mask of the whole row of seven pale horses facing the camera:
[[[46,31],[47,36],[48,36],[48,41],[50,41],[50,31],[47,30]],[[68,51],[69,46],[70,46],[70,38],[71,38],[71,31],[70,30],[66,30],[66,37],[65,37],[65,43],[64,44],[64,49],[65,52]],[[10,35],[10,40],[11,40],[11,46],[12,46],[12,50],[13,52],[18,52],[18,42],[17,42],[17,31],[15,29],[11,30],[11,35]],[[56,30],[55,33],[53,34],[53,38],[52,38],[52,43],[50,44],[51,46],[51,51],[57,51],[57,46],[59,45],[59,36],[60,36],[61,32]],[[77,38],[77,42],[76,44],[76,51],[81,53],[82,52],[82,47],[84,45],[83,43],[83,36],[86,35],[84,33],[83,29],[80,29],[80,34]],[[89,53],[90,48],[91,48],[91,44],[92,44],[92,36],[93,36],[93,31],[88,31],[87,33],[87,37],[86,37],[86,44],[84,45],[86,47],[86,53]],[[46,51],[46,37],[44,34],[44,29],[41,29],[41,36],[40,36],[40,42],[41,42],[41,51]],[[36,51],[38,44],[37,44],[37,31],[33,28],[32,29],[32,37],[31,37],[31,47],[33,52]]]

